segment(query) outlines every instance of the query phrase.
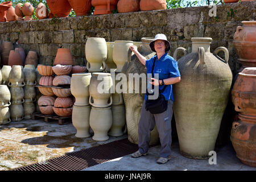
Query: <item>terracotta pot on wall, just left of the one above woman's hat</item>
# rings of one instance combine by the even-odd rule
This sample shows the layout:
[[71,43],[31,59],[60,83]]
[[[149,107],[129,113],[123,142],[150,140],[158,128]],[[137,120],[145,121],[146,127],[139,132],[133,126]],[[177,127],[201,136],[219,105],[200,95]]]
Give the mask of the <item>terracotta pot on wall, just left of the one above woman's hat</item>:
[[119,0],[117,10],[118,13],[139,11],[139,0]]

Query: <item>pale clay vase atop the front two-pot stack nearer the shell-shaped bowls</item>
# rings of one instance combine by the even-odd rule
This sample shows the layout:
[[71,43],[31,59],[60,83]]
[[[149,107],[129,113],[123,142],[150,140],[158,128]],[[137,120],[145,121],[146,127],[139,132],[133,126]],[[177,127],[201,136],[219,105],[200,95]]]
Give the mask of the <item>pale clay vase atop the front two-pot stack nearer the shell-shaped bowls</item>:
[[89,84],[91,73],[74,73],[71,77],[71,93],[76,98],[76,106],[89,105]]

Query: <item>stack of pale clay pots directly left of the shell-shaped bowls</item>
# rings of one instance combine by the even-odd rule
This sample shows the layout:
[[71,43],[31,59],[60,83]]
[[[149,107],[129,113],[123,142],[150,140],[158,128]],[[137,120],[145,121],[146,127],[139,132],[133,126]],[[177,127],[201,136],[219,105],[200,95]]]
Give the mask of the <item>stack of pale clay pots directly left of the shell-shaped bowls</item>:
[[31,119],[35,112],[36,101],[36,72],[34,64],[27,64],[23,68],[25,86],[24,86],[24,119]]

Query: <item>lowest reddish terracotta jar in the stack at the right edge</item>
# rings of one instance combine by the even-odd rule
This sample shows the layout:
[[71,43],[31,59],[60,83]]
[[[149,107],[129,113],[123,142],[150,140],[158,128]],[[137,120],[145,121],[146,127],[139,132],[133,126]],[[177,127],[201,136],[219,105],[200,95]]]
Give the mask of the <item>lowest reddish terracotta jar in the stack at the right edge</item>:
[[238,121],[233,122],[230,140],[237,158],[247,166],[256,167],[256,117],[238,114]]

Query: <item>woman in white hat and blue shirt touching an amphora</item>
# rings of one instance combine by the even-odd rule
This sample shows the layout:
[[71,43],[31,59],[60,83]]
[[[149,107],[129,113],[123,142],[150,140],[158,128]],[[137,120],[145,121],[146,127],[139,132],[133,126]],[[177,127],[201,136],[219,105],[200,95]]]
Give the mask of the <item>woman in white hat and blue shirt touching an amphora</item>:
[[[147,155],[150,143],[150,132],[156,125],[161,143],[160,158],[156,162],[164,164],[171,159],[171,120],[173,113],[172,105],[174,102],[172,84],[180,81],[180,72],[177,67],[177,62],[167,53],[171,46],[164,34],[157,34],[154,40],[150,43],[150,47],[152,51],[156,52],[156,55],[149,60],[146,60],[146,57],[138,52],[136,46],[131,46],[130,49],[135,53],[139,61],[147,67],[147,73],[159,74],[159,80],[151,78],[152,81],[150,81],[150,84],[154,86],[159,85],[159,90],[163,90],[164,85],[167,85],[162,94],[168,101],[168,107],[163,113],[151,114],[150,111],[145,109],[145,101],[147,100],[147,94],[145,94],[138,129],[139,150],[131,154],[131,156],[133,158],[138,158],[142,155]],[[152,71],[154,60],[154,71]]]

